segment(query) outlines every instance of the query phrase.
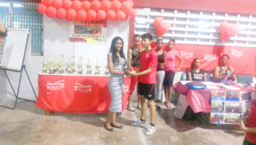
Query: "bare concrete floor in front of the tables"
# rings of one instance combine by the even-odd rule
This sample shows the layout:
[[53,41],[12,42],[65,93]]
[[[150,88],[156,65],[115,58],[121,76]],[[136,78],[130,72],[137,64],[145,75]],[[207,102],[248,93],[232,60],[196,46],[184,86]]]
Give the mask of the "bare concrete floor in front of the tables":
[[[133,104],[136,106],[136,103]],[[156,132],[131,126],[140,111],[124,111],[117,121],[123,129],[106,131],[106,113],[51,113],[35,103],[19,101],[14,110],[0,107],[0,144],[242,144],[245,136],[237,125],[199,124],[174,117],[174,110],[156,112]],[[147,110],[149,121],[149,109]],[[148,122],[149,124],[149,122]]]

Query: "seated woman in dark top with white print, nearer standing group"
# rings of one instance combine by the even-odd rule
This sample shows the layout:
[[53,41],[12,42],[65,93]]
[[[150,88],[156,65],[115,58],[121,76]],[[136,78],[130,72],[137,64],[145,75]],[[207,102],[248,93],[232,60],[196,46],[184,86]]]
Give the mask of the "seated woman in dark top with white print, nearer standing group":
[[188,79],[190,81],[207,81],[205,70],[199,69],[200,60],[198,58],[193,59],[191,63],[191,70],[188,70]]

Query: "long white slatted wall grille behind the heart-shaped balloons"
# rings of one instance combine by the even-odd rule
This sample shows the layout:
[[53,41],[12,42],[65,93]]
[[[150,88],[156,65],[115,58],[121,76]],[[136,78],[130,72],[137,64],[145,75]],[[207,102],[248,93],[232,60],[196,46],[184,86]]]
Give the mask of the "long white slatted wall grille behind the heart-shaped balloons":
[[[210,13],[202,11],[182,11],[166,9],[137,9],[138,15],[135,21],[135,34],[152,34],[154,41],[162,38],[168,42],[175,38],[180,44],[203,44],[219,46],[247,46],[256,47],[256,16],[227,13]],[[163,17],[172,27],[164,36],[156,34],[154,19]],[[227,21],[229,24],[237,24],[239,33],[229,40],[221,40],[219,24]]]

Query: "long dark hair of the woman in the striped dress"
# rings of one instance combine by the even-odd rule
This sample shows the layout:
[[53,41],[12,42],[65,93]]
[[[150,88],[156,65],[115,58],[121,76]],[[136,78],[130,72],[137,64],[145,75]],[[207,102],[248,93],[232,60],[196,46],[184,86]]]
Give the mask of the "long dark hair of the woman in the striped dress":
[[114,64],[115,61],[119,62],[118,56],[116,55],[116,41],[117,40],[121,40],[122,41],[122,48],[121,48],[119,54],[120,54],[121,58],[124,58],[124,60],[125,60],[125,64],[124,65],[126,65],[126,58],[124,56],[124,49],[123,49],[124,48],[124,40],[122,40],[122,38],[120,36],[116,36],[115,38],[113,38],[113,40],[111,42],[111,46],[110,46],[109,52],[112,53],[112,62],[113,62],[113,64]]

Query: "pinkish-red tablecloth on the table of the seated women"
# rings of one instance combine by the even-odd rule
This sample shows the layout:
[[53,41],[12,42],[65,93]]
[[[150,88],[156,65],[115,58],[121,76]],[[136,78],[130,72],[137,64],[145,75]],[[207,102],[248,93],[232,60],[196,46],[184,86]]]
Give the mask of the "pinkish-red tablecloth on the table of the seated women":
[[[217,86],[217,85],[216,85]],[[175,91],[179,91],[182,95],[186,95],[186,101],[193,109],[194,113],[198,112],[211,112],[211,91],[216,89],[190,89],[187,85],[183,85],[182,82],[175,83],[173,85]],[[238,87],[238,86],[235,86]],[[252,91],[250,88],[241,88],[239,90],[230,90],[218,87],[219,91]]]

